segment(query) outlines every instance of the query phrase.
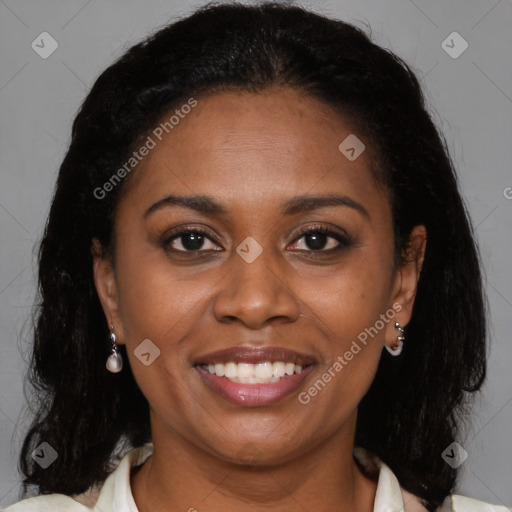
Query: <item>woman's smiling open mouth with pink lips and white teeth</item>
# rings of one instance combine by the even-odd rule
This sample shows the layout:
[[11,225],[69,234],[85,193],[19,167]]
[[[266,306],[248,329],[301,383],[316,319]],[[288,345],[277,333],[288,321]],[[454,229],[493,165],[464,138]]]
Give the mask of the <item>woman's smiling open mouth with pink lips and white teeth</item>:
[[222,398],[244,407],[277,403],[297,390],[315,360],[280,347],[234,347],[198,358],[203,382]]

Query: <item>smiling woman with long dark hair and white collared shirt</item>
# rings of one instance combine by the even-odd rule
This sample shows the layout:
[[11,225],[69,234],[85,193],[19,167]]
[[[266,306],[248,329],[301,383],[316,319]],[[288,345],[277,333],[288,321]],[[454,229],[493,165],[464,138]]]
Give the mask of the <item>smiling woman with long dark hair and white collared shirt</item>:
[[41,496],[8,512],[507,510],[452,494],[486,332],[453,166],[349,24],[217,5],[127,51],[73,124],[39,281]]

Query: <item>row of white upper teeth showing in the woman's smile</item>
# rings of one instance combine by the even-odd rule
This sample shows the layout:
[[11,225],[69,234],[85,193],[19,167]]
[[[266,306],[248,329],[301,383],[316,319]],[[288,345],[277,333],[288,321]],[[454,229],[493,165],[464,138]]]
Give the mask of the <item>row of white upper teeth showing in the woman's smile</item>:
[[269,382],[277,382],[285,375],[293,375],[302,372],[303,366],[284,361],[271,363],[249,364],[249,363],[229,363],[202,365],[208,369],[212,375],[218,377],[226,377],[232,382],[241,384],[268,384]]

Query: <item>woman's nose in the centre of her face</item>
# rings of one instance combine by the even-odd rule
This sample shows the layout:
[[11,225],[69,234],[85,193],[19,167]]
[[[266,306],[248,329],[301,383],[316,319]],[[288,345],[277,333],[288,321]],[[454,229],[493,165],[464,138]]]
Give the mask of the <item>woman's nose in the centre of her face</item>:
[[233,253],[231,269],[221,280],[221,291],[214,299],[214,315],[219,322],[240,321],[250,329],[261,329],[280,320],[294,322],[300,316],[300,301],[287,282],[290,269],[279,255],[263,252],[248,263]]

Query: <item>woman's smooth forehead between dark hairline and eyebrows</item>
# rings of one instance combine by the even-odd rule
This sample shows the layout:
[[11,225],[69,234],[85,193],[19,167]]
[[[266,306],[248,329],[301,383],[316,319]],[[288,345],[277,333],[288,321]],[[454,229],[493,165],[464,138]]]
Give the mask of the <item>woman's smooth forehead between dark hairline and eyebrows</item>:
[[383,206],[369,141],[324,103],[291,89],[196,101],[166,113],[159,126],[167,130],[150,132],[154,147],[129,191],[141,204],[181,193],[259,211],[295,195],[339,192]]

